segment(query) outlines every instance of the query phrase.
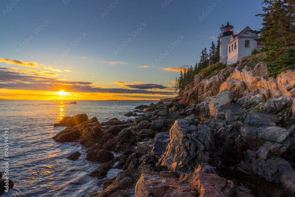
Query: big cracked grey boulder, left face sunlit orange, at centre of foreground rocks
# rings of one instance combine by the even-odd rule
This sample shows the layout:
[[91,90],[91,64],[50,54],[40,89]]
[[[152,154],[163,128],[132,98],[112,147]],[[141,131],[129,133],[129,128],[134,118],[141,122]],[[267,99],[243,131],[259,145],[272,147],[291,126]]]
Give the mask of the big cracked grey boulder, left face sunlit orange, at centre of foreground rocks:
[[193,121],[179,119],[170,129],[170,142],[160,163],[173,169],[180,161],[181,164],[188,164],[192,159],[211,163],[213,149],[214,139],[208,126],[195,126]]

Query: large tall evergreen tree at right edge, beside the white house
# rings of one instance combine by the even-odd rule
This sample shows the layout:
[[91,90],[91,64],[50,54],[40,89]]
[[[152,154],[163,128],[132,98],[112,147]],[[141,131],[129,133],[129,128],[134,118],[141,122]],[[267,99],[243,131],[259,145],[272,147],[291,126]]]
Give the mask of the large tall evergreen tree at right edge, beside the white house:
[[269,73],[295,68],[295,3],[291,0],[265,0],[262,10],[263,27],[256,33],[268,48],[264,61],[272,62]]

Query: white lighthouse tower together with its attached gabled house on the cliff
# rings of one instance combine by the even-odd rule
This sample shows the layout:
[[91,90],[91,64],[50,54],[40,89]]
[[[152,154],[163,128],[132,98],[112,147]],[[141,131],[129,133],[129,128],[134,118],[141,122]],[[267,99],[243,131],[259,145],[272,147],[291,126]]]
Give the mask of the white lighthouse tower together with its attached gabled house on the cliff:
[[251,55],[254,48],[262,48],[261,41],[255,33],[250,32],[251,28],[247,26],[240,33],[236,34],[234,27],[227,23],[223,28],[220,38],[220,61],[226,64],[234,64],[240,61],[242,57]]

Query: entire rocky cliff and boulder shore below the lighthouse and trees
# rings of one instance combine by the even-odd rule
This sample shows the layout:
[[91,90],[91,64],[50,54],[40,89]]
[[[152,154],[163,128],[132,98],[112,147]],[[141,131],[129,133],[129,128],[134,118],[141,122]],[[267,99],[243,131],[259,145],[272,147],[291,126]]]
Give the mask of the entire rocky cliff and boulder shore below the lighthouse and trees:
[[[239,64],[137,106],[134,120],[67,117],[53,139],[80,141],[104,163],[90,173],[103,184],[93,196],[295,196],[294,92],[295,71],[275,79],[266,64]],[[122,171],[106,179],[112,168]]]

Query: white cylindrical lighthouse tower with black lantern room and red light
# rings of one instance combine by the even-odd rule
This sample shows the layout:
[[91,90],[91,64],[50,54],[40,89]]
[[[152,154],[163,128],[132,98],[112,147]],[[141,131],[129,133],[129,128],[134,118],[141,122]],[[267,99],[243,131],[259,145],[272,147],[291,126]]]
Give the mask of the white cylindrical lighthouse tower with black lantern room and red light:
[[227,61],[227,44],[230,42],[231,35],[234,34],[234,26],[227,22],[227,25],[223,27],[222,37],[220,38],[220,61]]

